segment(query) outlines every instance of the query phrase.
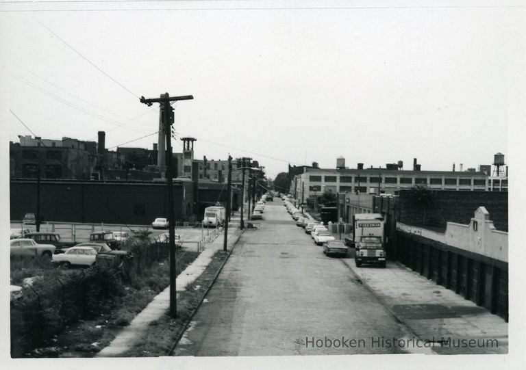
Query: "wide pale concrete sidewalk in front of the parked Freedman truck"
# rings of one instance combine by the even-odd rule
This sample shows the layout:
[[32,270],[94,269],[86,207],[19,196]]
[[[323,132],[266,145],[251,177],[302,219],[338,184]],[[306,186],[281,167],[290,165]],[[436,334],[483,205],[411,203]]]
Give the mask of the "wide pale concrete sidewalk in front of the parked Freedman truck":
[[486,308],[398,262],[382,269],[342,261],[419,339],[438,342],[437,354],[508,353],[508,323]]

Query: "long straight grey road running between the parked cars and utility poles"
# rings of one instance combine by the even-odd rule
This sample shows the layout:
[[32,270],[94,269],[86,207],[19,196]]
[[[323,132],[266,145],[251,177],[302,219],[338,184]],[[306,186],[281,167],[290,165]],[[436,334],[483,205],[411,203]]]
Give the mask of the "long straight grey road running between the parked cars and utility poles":
[[282,204],[267,202],[242,235],[175,356],[403,353],[381,342],[407,337],[403,327]]

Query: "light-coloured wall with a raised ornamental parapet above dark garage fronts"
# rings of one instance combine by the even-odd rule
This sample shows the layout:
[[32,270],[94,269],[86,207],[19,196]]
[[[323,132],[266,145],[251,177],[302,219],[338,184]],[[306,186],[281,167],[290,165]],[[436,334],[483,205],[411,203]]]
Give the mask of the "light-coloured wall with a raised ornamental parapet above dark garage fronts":
[[438,241],[460,250],[480,254],[490,259],[508,262],[508,233],[499,231],[493,226],[490,213],[484,207],[479,207],[475,211],[475,217],[471,218],[469,224],[448,222],[445,233],[409,226],[401,222],[397,222],[397,230]]

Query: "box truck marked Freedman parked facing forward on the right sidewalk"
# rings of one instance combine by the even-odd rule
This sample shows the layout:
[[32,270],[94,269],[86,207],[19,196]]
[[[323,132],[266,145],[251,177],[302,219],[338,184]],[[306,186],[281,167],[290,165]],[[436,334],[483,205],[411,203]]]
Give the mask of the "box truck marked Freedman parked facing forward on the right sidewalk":
[[356,267],[377,263],[386,267],[385,220],[380,213],[356,213],[353,216],[353,241]]

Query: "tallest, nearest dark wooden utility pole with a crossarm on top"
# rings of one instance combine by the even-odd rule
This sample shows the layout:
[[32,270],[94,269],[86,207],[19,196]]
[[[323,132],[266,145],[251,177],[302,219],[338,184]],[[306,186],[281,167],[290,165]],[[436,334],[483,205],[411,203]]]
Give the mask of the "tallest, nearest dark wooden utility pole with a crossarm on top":
[[186,96],[172,96],[166,92],[161,94],[160,98],[145,99],[140,97],[140,103],[146,104],[149,107],[153,103],[159,103],[161,106],[160,115],[163,122],[164,133],[166,135],[166,186],[168,187],[168,248],[170,250],[170,316],[177,317],[177,292],[175,291],[176,272],[175,272],[175,212],[173,209],[173,174],[172,174],[172,141],[171,141],[171,125],[174,122],[173,108],[170,105],[171,101],[186,101],[192,100],[192,95]]

